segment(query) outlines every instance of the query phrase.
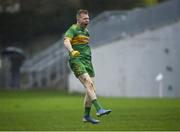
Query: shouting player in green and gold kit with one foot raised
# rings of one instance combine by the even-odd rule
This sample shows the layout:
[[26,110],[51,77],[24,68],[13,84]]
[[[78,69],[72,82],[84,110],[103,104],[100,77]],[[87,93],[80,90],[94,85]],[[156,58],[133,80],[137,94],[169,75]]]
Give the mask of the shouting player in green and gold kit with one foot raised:
[[64,45],[69,51],[69,64],[75,76],[86,89],[84,98],[84,122],[97,124],[100,121],[90,116],[91,105],[96,108],[96,115],[107,115],[111,110],[103,109],[97,100],[95,85],[93,82],[94,69],[91,62],[91,49],[89,46],[89,14],[87,10],[78,10],[76,14],[77,23],[73,24],[65,33]]

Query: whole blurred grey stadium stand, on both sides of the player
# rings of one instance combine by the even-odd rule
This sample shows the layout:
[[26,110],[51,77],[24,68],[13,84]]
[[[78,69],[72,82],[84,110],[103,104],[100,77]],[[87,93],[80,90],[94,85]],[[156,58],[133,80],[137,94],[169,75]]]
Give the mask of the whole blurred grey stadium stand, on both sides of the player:
[[[170,0],[149,8],[131,11],[107,11],[94,18],[90,25],[93,48],[176,23],[180,19],[180,1]],[[24,88],[68,88],[69,69],[63,37],[34,57],[25,61],[21,73],[27,79]]]

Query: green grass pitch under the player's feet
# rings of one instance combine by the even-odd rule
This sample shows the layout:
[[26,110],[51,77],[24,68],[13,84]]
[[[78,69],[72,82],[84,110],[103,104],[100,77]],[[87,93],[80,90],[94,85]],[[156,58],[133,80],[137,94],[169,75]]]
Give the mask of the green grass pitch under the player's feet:
[[[101,123],[82,122],[83,96],[57,91],[0,91],[0,130],[180,130],[179,98],[104,98]],[[92,109],[95,117],[95,110]]]

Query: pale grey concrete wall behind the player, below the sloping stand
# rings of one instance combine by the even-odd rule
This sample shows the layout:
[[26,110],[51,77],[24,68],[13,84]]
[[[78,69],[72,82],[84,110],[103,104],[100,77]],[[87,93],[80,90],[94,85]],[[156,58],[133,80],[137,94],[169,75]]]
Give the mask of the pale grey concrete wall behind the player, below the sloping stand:
[[[180,96],[180,22],[117,40],[92,50],[96,89],[100,96]],[[161,84],[155,80],[162,73]],[[69,75],[70,91],[84,92]]]

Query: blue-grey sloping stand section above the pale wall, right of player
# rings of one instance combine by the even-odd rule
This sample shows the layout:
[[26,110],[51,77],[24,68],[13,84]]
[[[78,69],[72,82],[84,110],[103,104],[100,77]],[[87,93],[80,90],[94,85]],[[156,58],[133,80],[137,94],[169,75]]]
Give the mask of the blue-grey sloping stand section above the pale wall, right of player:
[[91,45],[108,44],[116,39],[156,29],[180,19],[180,1],[170,0],[149,8],[131,11],[107,11],[100,14],[89,25]]

